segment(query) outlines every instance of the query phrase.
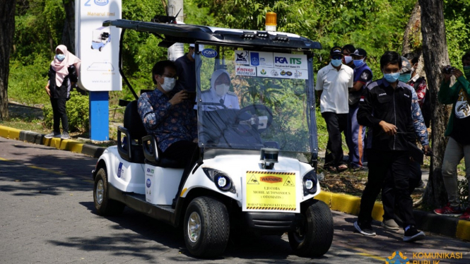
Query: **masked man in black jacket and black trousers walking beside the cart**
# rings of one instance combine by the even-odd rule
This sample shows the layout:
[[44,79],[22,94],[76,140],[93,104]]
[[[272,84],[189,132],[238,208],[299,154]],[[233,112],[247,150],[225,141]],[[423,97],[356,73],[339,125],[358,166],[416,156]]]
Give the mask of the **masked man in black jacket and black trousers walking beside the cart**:
[[[392,177],[394,192],[404,222],[404,241],[423,239],[425,234],[415,227],[413,200],[409,193],[409,143],[416,140],[411,104],[412,87],[399,82],[401,56],[385,52],[380,58],[384,78],[370,83],[363,90],[358,110],[358,123],[368,126],[368,183],[360,199],[360,212],[354,227],[361,234],[375,236],[372,209],[386,177]],[[388,171],[392,173],[387,174]],[[389,179],[387,179],[389,180]]]

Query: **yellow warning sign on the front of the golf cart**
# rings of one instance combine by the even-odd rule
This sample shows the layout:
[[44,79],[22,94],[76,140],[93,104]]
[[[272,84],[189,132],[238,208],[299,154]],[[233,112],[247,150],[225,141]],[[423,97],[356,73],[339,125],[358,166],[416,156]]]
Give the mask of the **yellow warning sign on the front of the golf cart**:
[[248,171],[245,176],[244,210],[298,211],[296,172]]

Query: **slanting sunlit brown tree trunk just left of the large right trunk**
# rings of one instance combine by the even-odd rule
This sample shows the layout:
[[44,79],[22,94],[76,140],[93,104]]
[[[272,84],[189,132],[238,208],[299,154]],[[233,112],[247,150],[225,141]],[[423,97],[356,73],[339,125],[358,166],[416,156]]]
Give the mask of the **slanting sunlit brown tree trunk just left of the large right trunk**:
[[416,1],[416,5],[411,12],[411,16],[408,20],[405,34],[403,36],[403,49],[401,54],[404,55],[410,52],[419,56],[418,68],[416,71],[419,76],[423,76],[425,78],[426,73],[424,71],[423,63],[423,35],[421,34],[421,6],[419,6],[418,1]]

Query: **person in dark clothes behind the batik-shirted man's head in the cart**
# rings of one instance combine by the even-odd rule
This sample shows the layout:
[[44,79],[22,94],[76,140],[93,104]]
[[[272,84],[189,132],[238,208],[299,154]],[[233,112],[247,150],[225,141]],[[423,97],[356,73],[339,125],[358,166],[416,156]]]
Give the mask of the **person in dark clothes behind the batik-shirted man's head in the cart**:
[[186,54],[176,59],[176,75],[178,80],[176,82],[175,90],[187,90],[188,92],[196,92],[196,56],[195,45],[189,44],[189,49]]

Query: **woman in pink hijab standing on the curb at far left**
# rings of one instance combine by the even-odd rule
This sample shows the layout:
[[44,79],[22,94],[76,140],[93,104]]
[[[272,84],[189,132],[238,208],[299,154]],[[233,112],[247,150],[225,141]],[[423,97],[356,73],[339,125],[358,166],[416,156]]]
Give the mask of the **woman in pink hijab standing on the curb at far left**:
[[[51,97],[52,112],[54,113],[54,131],[45,138],[69,139],[69,121],[65,111],[65,102],[70,98],[70,89],[78,80],[81,61],[74,54],[67,51],[67,47],[59,45],[56,55],[49,68],[49,80],[46,92]],[[62,121],[62,134],[59,124]]]

